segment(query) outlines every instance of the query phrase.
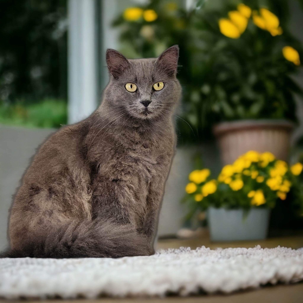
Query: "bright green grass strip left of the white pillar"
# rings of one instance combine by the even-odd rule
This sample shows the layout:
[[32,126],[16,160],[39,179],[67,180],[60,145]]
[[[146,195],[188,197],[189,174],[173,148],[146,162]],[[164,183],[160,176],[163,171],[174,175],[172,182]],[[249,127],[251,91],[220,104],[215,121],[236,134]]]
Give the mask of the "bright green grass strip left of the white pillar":
[[59,128],[67,123],[67,103],[45,99],[38,103],[0,101],[0,124],[28,128]]

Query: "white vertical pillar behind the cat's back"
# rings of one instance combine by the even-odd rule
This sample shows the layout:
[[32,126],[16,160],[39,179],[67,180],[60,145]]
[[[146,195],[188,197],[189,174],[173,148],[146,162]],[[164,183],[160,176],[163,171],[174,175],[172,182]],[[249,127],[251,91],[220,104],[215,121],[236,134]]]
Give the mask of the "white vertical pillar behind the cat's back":
[[95,0],[68,0],[68,123],[98,106]]

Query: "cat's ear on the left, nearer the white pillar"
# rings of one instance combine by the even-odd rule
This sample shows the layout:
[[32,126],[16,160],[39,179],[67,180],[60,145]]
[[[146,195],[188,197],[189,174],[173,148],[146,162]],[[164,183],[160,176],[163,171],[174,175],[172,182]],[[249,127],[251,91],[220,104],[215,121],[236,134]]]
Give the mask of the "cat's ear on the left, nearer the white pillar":
[[119,78],[125,69],[130,67],[129,61],[122,54],[111,48],[106,51],[106,63],[109,72],[115,79]]

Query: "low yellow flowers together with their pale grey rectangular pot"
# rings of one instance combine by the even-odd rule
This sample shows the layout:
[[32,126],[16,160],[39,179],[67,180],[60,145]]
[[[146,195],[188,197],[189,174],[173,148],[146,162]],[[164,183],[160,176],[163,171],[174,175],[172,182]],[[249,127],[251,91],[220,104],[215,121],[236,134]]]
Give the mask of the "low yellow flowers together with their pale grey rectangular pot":
[[225,165],[217,179],[208,169],[192,171],[185,188],[191,214],[208,209],[212,241],[264,239],[270,209],[285,201],[302,168],[270,152],[248,151]]

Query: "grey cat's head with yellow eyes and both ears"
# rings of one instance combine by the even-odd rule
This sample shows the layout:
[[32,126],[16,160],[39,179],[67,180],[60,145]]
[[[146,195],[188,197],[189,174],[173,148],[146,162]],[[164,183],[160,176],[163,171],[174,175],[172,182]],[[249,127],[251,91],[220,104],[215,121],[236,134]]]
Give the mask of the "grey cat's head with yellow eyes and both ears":
[[114,49],[106,52],[110,82],[105,99],[117,115],[138,119],[171,115],[181,96],[176,78],[179,48],[174,45],[158,58],[126,59]]

